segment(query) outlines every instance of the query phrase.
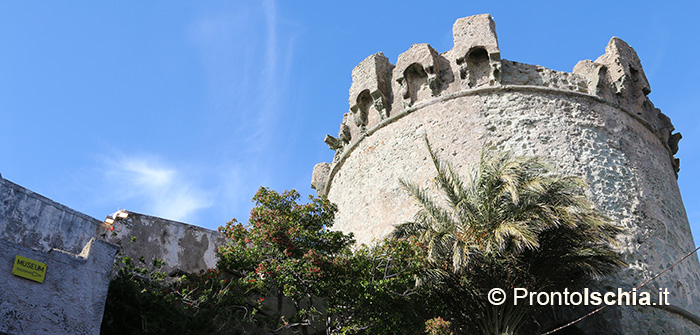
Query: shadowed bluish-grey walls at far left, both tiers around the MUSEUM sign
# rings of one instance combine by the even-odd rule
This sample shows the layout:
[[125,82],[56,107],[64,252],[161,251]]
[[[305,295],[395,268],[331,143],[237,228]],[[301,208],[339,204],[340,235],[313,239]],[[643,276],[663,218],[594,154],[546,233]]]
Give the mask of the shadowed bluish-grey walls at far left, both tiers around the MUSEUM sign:
[[[0,177],[0,332],[98,334],[117,246],[101,221]],[[15,256],[46,263],[43,283],[12,275]]]

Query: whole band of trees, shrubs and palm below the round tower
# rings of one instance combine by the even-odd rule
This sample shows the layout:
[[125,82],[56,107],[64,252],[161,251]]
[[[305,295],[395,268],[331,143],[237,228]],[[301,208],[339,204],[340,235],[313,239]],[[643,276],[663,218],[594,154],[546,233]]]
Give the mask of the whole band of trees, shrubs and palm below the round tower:
[[622,264],[580,179],[498,153],[463,181],[430,153],[444,199],[403,182],[423,210],[375,246],[330,230],[327,199],[261,188],[248,225],[220,228],[216,269],[171,278],[122,258],[102,333],[527,333],[540,310],[490,305],[489,289],[577,289]]

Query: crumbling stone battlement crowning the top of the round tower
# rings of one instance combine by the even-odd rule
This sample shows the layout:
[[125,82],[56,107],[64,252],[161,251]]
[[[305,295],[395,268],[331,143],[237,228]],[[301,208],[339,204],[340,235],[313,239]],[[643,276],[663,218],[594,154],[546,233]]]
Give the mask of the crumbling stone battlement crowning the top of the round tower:
[[444,53],[429,44],[414,44],[398,56],[396,65],[377,53],[353,69],[349,111],[337,137],[324,140],[335,157],[314,168],[312,187],[319,194],[327,193],[334,166],[366,136],[421,106],[485,91],[539,90],[607,103],[654,133],[667,148],[675,172],[679,170],[673,155],[681,136],[671,134],[669,118],[647,97],[651,89],[639,57],[621,39],[613,37],[605,54],[580,61],[567,73],[502,60],[489,14],[458,19],[452,31],[454,46]]

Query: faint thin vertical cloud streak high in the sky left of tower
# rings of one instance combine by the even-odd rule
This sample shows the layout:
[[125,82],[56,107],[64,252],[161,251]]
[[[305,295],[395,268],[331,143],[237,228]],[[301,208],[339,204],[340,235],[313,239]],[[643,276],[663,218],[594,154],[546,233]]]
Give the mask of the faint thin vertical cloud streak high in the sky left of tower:
[[294,38],[280,29],[274,0],[234,7],[203,13],[190,35],[206,69],[213,127],[234,128],[228,140],[252,159],[267,152],[284,126]]

